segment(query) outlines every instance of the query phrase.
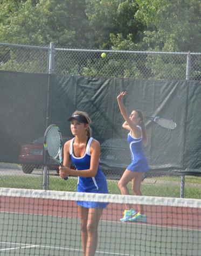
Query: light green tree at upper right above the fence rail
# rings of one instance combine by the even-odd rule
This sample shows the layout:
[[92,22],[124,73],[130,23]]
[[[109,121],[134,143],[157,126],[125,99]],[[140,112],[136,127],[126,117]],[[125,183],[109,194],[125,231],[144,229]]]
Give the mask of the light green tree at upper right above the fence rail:
[[157,51],[200,51],[199,0],[136,0],[135,17],[147,26],[143,41]]

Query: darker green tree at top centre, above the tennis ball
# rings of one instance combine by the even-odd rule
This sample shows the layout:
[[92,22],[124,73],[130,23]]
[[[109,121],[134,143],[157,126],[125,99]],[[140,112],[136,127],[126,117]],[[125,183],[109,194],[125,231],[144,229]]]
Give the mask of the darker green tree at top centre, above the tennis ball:
[[[119,39],[132,43],[141,40],[143,25],[134,16],[137,5],[133,0],[86,0],[86,3],[94,47],[117,49],[120,46]],[[123,49],[124,46],[120,48]]]

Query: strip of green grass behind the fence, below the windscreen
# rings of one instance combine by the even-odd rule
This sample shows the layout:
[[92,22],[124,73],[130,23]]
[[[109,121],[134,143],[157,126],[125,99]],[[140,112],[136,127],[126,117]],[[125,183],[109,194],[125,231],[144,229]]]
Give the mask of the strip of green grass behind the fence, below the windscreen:
[[[153,179],[153,177],[151,178]],[[156,177],[155,177],[156,179]],[[148,181],[149,179],[147,179]],[[157,180],[161,181],[178,181],[177,184],[163,183],[142,183],[142,194],[144,196],[160,196],[160,197],[179,197],[180,195],[180,178],[179,177],[157,177]],[[109,193],[120,194],[120,190],[117,186],[117,181],[108,179]],[[188,183],[200,183],[201,178],[188,176],[185,179],[185,198],[201,198],[201,186],[188,186]],[[22,188],[22,189],[42,189],[41,176],[1,176],[0,187],[4,188]],[[131,191],[131,184],[128,185],[130,195],[133,195]],[[70,177],[68,181],[60,179],[58,176],[49,177],[49,190],[59,191],[76,191],[77,190],[77,178]]]

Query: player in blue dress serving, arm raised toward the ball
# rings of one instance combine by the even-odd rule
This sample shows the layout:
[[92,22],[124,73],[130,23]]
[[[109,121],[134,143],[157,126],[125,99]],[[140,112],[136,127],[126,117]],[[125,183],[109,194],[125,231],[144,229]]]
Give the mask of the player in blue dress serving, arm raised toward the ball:
[[[128,134],[128,143],[131,154],[131,163],[124,171],[118,186],[122,195],[129,195],[127,185],[131,181],[134,195],[141,196],[142,193],[140,187],[143,173],[149,170],[147,158],[145,157],[142,148],[143,142],[147,144],[147,132],[143,122],[143,115],[140,110],[133,110],[130,113],[130,116],[128,116],[127,110],[122,102],[122,98],[126,96],[126,94],[126,92],[121,92],[117,96],[117,102],[125,120],[122,127],[130,131]],[[147,222],[143,205],[137,205],[137,212],[130,209],[129,205],[126,205],[126,210],[124,211],[123,218],[121,218],[120,221],[127,222],[128,220],[130,222]]]

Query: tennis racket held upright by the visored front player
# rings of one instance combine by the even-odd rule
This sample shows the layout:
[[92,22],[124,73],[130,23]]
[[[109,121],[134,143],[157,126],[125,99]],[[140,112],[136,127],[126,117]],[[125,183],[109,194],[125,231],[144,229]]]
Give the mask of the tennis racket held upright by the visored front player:
[[[62,147],[63,144],[60,129],[56,124],[51,124],[45,131],[44,149],[48,156],[50,156],[60,166],[63,166]],[[68,177],[64,179],[67,180]]]

